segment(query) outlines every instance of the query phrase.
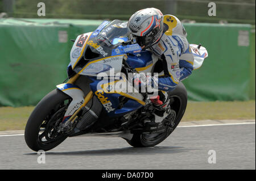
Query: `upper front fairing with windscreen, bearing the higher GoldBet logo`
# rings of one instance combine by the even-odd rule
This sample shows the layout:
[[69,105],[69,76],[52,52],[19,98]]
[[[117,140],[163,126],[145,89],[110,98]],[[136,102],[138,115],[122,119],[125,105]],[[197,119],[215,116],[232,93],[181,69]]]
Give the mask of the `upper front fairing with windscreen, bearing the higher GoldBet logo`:
[[96,31],[78,36],[70,54],[73,71],[90,76],[119,73],[125,53],[141,51],[138,44],[118,44],[128,40],[129,31],[125,25],[119,20],[105,21]]

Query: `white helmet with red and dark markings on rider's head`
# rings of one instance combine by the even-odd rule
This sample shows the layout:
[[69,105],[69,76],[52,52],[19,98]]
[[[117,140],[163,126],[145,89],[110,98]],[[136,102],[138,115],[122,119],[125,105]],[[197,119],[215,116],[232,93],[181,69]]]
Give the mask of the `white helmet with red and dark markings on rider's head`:
[[163,33],[163,14],[154,7],[135,12],[128,22],[128,28],[144,49],[157,43]]

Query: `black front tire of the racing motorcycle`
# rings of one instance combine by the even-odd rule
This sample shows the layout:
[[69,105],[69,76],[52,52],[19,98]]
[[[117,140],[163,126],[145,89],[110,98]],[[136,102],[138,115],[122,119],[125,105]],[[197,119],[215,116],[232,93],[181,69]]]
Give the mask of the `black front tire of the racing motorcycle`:
[[[58,135],[54,139],[50,139],[48,134],[43,132],[45,135],[47,135],[45,136],[46,142],[44,143],[42,141],[43,138],[41,138],[42,135],[39,135],[40,128],[44,127],[47,130],[50,125],[49,122],[51,122],[51,124],[56,124],[55,122],[57,120],[54,120],[57,115],[56,112],[59,112],[60,115],[57,115],[59,117],[61,116],[61,114],[63,114],[63,112],[65,112],[65,108],[67,107],[67,105],[64,105],[64,101],[66,100],[68,100],[68,102],[70,103],[71,98],[67,94],[64,94],[64,92],[55,89],[49,92],[49,94],[47,94],[46,96],[44,96],[44,98],[40,100],[40,102],[36,105],[34,111],[32,111],[27,121],[24,134],[25,141],[30,149],[34,151],[48,151],[55,148],[67,138],[66,135],[57,133],[60,135]],[[49,129],[51,129],[52,132],[52,128]]]

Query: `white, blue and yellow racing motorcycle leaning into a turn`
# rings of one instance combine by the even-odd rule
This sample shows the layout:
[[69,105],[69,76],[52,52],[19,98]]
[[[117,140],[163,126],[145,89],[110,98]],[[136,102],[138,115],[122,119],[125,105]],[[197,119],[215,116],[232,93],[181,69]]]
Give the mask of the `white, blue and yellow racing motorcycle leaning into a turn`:
[[[67,137],[81,135],[121,137],[131,146],[147,147],[170,136],[187,107],[185,86],[180,82],[168,92],[165,118],[156,123],[159,108],[147,93],[125,91],[120,85],[130,83],[124,76],[128,73],[160,72],[162,61],[142,50],[128,32],[120,20],[104,21],[94,32],[73,40],[68,81],[44,96],[27,121],[24,137],[29,148],[47,151]],[[207,50],[201,45],[190,47],[193,67],[198,69]],[[122,74],[112,79],[110,70]],[[100,73],[105,77],[98,79]]]

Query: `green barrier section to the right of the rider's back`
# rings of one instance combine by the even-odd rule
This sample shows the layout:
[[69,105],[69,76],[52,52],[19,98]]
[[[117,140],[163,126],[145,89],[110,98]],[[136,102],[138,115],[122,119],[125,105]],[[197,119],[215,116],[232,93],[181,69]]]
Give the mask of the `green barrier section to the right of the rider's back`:
[[201,43],[209,54],[203,66],[184,80],[189,99],[249,100],[251,26],[205,23],[184,26],[189,43]]

